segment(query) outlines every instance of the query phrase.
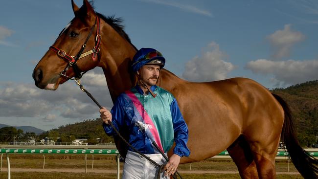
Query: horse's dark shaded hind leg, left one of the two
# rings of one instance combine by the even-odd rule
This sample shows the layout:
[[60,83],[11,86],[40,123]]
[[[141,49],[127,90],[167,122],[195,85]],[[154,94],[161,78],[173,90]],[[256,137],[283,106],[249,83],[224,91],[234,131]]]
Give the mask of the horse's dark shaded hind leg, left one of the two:
[[240,135],[227,148],[227,152],[236,164],[242,179],[258,179],[257,168],[250,151],[250,145],[243,135]]

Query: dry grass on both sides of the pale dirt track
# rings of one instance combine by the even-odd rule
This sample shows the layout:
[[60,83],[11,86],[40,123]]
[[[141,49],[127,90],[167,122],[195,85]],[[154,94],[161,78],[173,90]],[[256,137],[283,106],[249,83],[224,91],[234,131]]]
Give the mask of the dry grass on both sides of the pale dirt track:
[[[88,155],[87,168],[90,169],[93,162],[94,169],[117,169],[115,157]],[[45,155],[45,168],[85,169],[85,156]],[[43,168],[44,158],[41,155],[10,155],[11,168]],[[2,158],[2,167],[6,168],[5,157]],[[236,165],[231,159],[207,159],[195,163],[181,164],[178,170],[207,170],[207,171],[237,171]],[[275,163],[277,172],[287,172],[287,161],[277,160]],[[120,162],[120,168],[123,163]],[[289,171],[296,172],[292,163],[289,163]],[[116,179],[116,174],[107,173],[65,173],[65,172],[11,172],[12,179]],[[7,178],[7,172],[0,173],[0,179]],[[183,179],[240,179],[239,174],[182,174]],[[277,175],[277,179],[302,179],[300,175]]]

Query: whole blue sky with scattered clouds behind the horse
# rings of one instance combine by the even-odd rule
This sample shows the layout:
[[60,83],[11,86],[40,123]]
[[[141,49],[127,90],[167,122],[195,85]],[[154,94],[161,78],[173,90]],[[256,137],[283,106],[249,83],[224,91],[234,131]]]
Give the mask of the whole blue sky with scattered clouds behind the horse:
[[[188,81],[246,77],[273,89],[318,79],[317,0],[94,0],[94,7],[121,17],[137,48],[157,49],[165,68]],[[1,1],[1,124],[46,131],[99,117],[72,81],[50,91],[32,79],[73,18],[70,0]],[[82,84],[112,108],[100,68],[86,73]]]

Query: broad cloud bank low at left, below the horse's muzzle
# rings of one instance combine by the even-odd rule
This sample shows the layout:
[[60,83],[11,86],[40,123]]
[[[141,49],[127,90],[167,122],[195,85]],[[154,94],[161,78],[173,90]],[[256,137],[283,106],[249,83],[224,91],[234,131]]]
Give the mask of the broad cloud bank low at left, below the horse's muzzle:
[[[84,79],[86,75],[87,79],[82,82],[85,88],[102,106],[112,107],[105,77],[92,72],[85,74]],[[95,82],[100,85],[94,85]],[[0,83],[0,117],[36,117],[45,122],[57,118],[83,120],[96,116],[98,110],[91,98],[72,81],[55,91],[40,90],[33,84]]]

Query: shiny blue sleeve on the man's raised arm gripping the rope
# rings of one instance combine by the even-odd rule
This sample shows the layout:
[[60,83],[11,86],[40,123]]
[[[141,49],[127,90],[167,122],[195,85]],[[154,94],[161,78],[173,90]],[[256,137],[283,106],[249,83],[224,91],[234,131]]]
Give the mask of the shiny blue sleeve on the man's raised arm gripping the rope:
[[[124,98],[119,96],[111,110],[112,124],[114,125],[117,131],[119,131],[119,128],[123,126],[125,120],[125,111],[123,109],[123,103],[125,103]],[[111,125],[107,125],[103,122],[103,128],[107,135],[116,135]]]

